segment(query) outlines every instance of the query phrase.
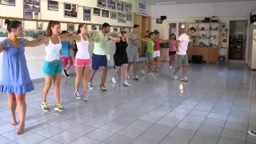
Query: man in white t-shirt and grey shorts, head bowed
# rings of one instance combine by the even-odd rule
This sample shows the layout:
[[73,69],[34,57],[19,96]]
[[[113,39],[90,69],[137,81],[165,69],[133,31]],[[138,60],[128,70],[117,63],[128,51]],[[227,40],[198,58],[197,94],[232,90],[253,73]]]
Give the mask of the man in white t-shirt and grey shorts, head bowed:
[[188,78],[186,78],[186,66],[189,66],[186,50],[190,42],[190,35],[194,34],[195,31],[195,28],[191,27],[186,33],[181,34],[176,41],[177,67],[174,70],[174,74],[171,76],[175,80],[178,80],[178,76],[176,74],[182,67],[183,73],[181,80],[184,82],[189,81]]

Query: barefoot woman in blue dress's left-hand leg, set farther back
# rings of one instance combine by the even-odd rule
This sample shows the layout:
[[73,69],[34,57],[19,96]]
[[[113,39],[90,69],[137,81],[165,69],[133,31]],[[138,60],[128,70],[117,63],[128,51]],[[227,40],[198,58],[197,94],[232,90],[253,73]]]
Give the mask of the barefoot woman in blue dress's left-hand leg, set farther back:
[[13,126],[17,125],[15,110],[17,106],[16,98],[14,94],[7,94],[8,96],[8,106],[10,109],[10,124]]

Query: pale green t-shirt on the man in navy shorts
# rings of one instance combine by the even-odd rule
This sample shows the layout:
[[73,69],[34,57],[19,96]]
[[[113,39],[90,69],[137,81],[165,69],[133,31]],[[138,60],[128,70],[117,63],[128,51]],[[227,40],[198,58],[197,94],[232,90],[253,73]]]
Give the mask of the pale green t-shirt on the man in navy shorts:
[[107,35],[99,32],[94,37],[94,54],[106,55],[106,42],[109,40]]

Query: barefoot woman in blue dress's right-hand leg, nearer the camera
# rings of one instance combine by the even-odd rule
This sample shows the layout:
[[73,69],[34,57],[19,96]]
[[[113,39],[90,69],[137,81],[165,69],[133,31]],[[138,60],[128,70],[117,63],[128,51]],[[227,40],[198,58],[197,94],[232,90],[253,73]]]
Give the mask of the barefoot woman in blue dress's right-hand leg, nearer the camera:
[[17,94],[16,95],[18,117],[19,117],[19,128],[18,134],[24,134],[25,128],[25,119],[26,119],[26,94]]

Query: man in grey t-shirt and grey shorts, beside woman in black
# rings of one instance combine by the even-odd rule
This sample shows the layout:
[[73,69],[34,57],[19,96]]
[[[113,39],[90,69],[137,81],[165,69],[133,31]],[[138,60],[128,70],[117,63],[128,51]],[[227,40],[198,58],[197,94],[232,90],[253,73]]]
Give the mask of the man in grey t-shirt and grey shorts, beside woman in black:
[[[131,34],[129,34],[128,41],[128,73],[130,70],[130,66],[134,65],[134,80],[138,80],[138,29],[139,26],[137,24],[134,25],[134,30]],[[128,78],[130,78],[128,76]]]

